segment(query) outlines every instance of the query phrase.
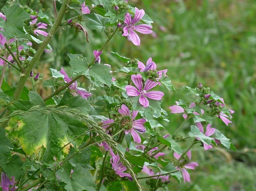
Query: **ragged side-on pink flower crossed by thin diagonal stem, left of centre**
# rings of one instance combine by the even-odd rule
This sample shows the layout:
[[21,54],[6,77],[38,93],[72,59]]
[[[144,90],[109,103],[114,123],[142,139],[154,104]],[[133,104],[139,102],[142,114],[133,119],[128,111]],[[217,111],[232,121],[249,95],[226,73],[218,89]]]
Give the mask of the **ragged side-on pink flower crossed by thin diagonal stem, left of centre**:
[[[69,78],[69,76],[65,72],[64,68],[61,68],[61,71],[59,71],[59,73],[64,75],[64,81],[66,81],[67,83],[71,82],[71,78]],[[76,81],[74,81],[72,84],[69,85],[69,89],[74,90],[74,91],[71,92],[71,94],[73,96],[77,96],[77,94],[79,94],[84,99],[87,99],[89,96],[92,95],[91,93],[85,91],[83,88],[77,87],[77,86],[78,86],[78,84],[77,84]]]

